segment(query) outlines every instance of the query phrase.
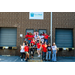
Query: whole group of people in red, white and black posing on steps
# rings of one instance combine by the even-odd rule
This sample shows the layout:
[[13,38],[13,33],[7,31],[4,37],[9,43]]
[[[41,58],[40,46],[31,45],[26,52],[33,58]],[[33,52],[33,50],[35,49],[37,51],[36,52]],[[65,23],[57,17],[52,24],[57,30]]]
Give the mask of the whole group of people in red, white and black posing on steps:
[[29,55],[31,56],[31,59],[33,59],[36,49],[38,57],[42,55],[42,60],[50,61],[52,54],[52,61],[56,61],[57,47],[55,43],[53,43],[53,46],[48,43],[49,37],[50,36],[47,35],[47,33],[40,35],[37,33],[35,35],[27,33],[27,35],[25,35],[23,45],[20,45],[21,61],[23,61],[23,58],[27,61],[29,59]]

